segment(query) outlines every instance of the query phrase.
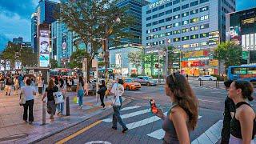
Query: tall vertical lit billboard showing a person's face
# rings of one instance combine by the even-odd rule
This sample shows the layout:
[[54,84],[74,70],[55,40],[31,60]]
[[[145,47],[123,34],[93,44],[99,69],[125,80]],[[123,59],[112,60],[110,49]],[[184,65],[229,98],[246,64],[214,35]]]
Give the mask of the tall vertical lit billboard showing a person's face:
[[39,31],[39,66],[48,67],[50,64],[50,31]]

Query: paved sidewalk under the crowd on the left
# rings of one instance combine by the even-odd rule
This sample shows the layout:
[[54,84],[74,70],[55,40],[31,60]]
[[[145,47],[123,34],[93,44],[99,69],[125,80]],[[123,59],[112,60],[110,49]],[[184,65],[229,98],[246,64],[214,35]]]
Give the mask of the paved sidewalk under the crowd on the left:
[[[102,113],[100,100],[96,103],[95,96],[83,98],[84,106],[78,109],[78,104],[73,102],[76,93],[67,93],[70,96],[70,116],[58,116],[55,114],[54,122],[50,121],[50,115],[46,112],[46,125],[42,124],[42,97],[34,98],[34,122],[29,125],[22,120],[23,106],[19,106],[19,97],[12,91],[11,96],[0,92],[0,143],[29,143],[49,134],[53,134],[67,127]],[[106,109],[110,109],[111,98],[105,98]],[[66,103],[65,103],[66,114]]]

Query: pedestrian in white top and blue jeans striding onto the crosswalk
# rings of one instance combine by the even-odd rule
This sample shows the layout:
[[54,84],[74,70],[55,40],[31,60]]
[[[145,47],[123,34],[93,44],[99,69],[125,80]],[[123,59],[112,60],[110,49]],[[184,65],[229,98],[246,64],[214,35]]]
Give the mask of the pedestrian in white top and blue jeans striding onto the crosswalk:
[[122,106],[122,94],[124,93],[124,87],[122,86],[123,81],[122,78],[118,77],[118,82],[114,83],[114,85],[112,86],[111,89],[111,94],[114,94],[114,102],[116,102],[116,99],[119,98],[120,100],[120,106],[115,106],[113,105],[113,110],[114,110],[114,114],[113,114],[113,126],[112,129],[117,130],[118,126],[117,124],[119,123],[122,126],[122,133],[125,133],[128,128],[126,127],[126,124],[122,121],[122,118],[120,116],[120,109]]

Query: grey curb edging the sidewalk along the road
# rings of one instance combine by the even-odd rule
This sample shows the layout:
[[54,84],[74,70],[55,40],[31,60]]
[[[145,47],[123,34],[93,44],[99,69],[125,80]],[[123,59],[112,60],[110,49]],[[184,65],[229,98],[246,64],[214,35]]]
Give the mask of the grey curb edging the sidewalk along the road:
[[[128,97],[128,96],[123,96],[123,97],[125,97],[126,99],[124,100],[122,106],[126,106],[126,105],[129,104],[130,102],[133,102],[133,101],[134,101],[134,98],[130,98],[130,97]],[[106,109],[106,110],[104,111],[104,114],[100,113],[100,114],[94,115],[94,116],[91,117],[91,118],[86,118],[86,119],[83,120],[82,122],[74,123],[74,125],[67,126],[66,128],[64,128],[64,129],[62,129],[62,130],[57,130],[57,131],[53,132],[52,134],[48,134],[48,135],[46,135],[46,136],[43,136],[42,138],[38,138],[38,139],[36,139],[36,140],[34,140],[34,141],[32,141],[32,142],[28,142],[28,143],[37,143],[37,142],[41,142],[42,140],[44,140],[44,139],[46,139],[46,138],[50,138],[50,137],[54,136],[55,134],[59,134],[59,133],[61,133],[61,132],[64,131],[64,130],[69,130],[70,128],[72,128],[72,127],[74,127],[74,126],[82,125],[84,122],[89,122],[89,123],[87,123],[87,124],[84,125],[84,126],[79,126],[79,129],[77,129],[76,131],[82,130],[83,127],[89,126],[91,123],[97,122],[98,119],[105,118],[106,116],[108,116],[108,115],[110,115],[110,114],[112,114],[112,113],[113,113],[113,110],[112,110],[111,108]],[[59,140],[59,139],[58,139],[58,140]],[[58,140],[57,140],[57,141],[58,141]],[[56,141],[56,142],[57,142],[57,141]]]

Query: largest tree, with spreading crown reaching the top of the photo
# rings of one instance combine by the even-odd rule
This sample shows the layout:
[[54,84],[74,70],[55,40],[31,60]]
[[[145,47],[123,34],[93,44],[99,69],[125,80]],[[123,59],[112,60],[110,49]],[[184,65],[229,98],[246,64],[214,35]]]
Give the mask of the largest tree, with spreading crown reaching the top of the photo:
[[[60,12],[56,13],[56,17],[74,32],[74,43],[86,45],[85,50],[89,54],[87,79],[90,78],[89,70],[92,59],[98,54],[100,48],[104,48],[102,44],[106,42],[106,39],[115,45],[128,34],[124,29],[129,26],[131,17],[115,4],[116,1],[112,0],[68,1],[60,4]],[[114,22],[117,17],[121,19],[121,22]],[[108,45],[108,42],[106,44]]]

